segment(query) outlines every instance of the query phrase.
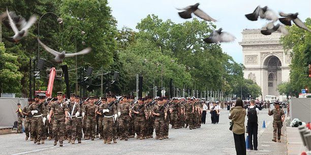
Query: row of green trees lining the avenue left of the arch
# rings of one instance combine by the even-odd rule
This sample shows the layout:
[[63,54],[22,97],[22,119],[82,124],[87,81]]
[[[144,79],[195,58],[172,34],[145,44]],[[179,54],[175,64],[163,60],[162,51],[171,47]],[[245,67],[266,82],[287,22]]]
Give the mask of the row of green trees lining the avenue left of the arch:
[[[80,86],[87,85],[88,93],[100,95],[101,86],[105,90],[109,86],[110,74],[118,71],[119,79],[111,86],[116,94],[135,92],[136,74],[143,76],[143,91],[150,94],[154,86],[158,90],[162,86],[168,88],[171,79],[173,86],[179,89],[223,91],[225,95],[247,97],[261,94],[257,84],[243,78],[242,64],[224,53],[219,44],[203,42],[202,38],[216,28],[211,22],[194,18],[192,21],[174,23],[171,20],[163,21],[156,15],[147,15],[137,24],[137,31],[128,27],[118,30],[117,21],[105,0],[7,0],[0,2],[0,6],[6,6],[26,19],[33,14],[41,17],[37,21],[40,25],[34,25],[20,43],[4,40],[4,44],[0,44],[0,69],[4,70],[0,73],[2,92],[28,96],[29,58],[36,57],[37,60],[38,55],[47,60],[52,58],[39,48],[36,40],[39,37],[44,44],[59,51],[75,52],[86,47],[93,49],[91,53],[76,59],[65,59],[63,64],[67,64],[71,70],[71,90],[75,90],[75,83],[79,83]],[[3,7],[0,11],[4,12],[5,9]],[[49,12],[63,18],[63,23],[58,24],[58,17]],[[13,34],[5,26],[2,30],[3,35]],[[85,31],[84,35],[81,35],[81,30]],[[47,61],[46,67],[52,66],[60,69],[59,65]],[[94,68],[86,84],[79,78],[80,69],[76,68],[80,66]],[[105,83],[102,83],[101,74],[105,72],[111,73],[103,75]],[[46,73],[44,70],[40,73],[42,78],[36,80],[36,89],[45,90],[48,81]],[[54,90],[65,88],[63,79],[55,80]]]

